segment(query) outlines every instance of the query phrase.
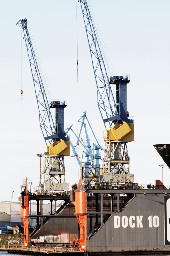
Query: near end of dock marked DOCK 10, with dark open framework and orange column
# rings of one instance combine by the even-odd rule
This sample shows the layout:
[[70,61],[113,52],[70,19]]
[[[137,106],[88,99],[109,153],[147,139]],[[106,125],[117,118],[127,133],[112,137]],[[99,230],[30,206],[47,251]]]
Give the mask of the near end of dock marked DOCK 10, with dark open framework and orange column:
[[[87,252],[159,252],[170,251],[170,191],[169,186],[148,185],[149,189],[95,189],[75,190],[98,197],[96,212],[75,214],[84,217],[84,241]],[[157,189],[160,188],[160,189]],[[116,193],[117,198],[114,198]],[[100,197],[99,197],[100,194]],[[103,197],[110,195],[111,208],[105,211]],[[120,199],[120,195],[125,198]],[[76,199],[77,200],[77,199]],[[115,202],[116,201],[116,202]],[[80,202],[82,203],[82,202]],[[116,203],[116,205],[114,204]],[[75,207],[76,208],[76,207]],[[80,206],[78,206],[80,209]],[[83,209],[83,208],[82,208]],[[87,209],[87,203],[86,203]],[[96,222],[89,230],[91,214]],[[100,219],[100,221],[99,221]],[[81,226],[81,220],[79,220]],[[80,227],[80,234],[83,232]]]

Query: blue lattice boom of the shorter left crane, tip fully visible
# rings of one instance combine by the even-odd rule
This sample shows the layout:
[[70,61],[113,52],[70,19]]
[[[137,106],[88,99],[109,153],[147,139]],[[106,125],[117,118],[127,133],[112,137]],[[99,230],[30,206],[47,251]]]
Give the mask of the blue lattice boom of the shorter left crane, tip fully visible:
[[47,145],[50,145],[52,141],[55,141],[59,136],[56,133],[55,125],[52,119],[50,107],[48,104],[47,96],[45,93],[44,85],[39,72],[38,64],[35,58],[33,45],[30,39],[30,35],[27,29],[27,19],[22,19],[17,22],[17,25],[23,29],[24,39],[27,47],[31,74],[33,77],[35,94],[39,110],[39,124],[43,133],[44,140]]

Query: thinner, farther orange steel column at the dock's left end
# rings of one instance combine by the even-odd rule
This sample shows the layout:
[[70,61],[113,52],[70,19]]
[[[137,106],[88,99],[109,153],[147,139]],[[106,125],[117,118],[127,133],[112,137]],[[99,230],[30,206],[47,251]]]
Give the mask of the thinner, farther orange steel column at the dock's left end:
[[24,237],[21,240],[24,241],[24,246],[28,246],[29,241],[29,196],[24,196],[24,204],[20,206],[20,218],[24,225]]

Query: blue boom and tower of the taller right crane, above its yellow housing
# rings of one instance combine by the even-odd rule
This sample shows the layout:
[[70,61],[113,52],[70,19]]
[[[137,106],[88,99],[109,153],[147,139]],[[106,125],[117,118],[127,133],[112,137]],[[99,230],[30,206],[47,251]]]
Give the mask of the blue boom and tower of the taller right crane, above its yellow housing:
[[[87,0],[80,0],[79,2],[81,4],[97,86],[97,105],[102,116],[104,126],[106,128],[106,123],[108,123],[109,128],[111,128],[112,125],[119,120],[122,122],[125,121],[127,123],[132,123],[131,119],[128,119],[126,103],[126,85],[130,81],[129,75],[113,75],[109,78],[91,10],[88,6]],[[113,96],[113,87],[116,89],[116,98]]]

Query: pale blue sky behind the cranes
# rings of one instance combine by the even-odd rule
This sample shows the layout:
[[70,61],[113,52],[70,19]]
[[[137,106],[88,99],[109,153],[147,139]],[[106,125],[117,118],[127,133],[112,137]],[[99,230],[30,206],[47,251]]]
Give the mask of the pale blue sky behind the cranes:
[[[0,199],[20,196],[27,175],[37,186],[39,159],[45,145],[39,128],[35,92],[23,41],[23,121],[21,119],[21,28],[27,18],[40,59],[56,99],[67,100],[65,128],[88,117],[101,145],[100,117],[91,57],[78,3],[79,95],[77,94],[76,0],[0,1],[1,139]],[[139,184],[161,179],[161,157],[153,147],[170,143],[170,1],[91,0],[116,73],[131,74],[128,111],[135,120],[135,141],[128,143],[130,171]],[[78,165],[65,158],[66,181],[78,181]],[[164,180],[170,183],[170,170]]]

